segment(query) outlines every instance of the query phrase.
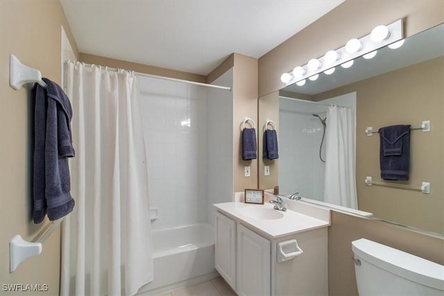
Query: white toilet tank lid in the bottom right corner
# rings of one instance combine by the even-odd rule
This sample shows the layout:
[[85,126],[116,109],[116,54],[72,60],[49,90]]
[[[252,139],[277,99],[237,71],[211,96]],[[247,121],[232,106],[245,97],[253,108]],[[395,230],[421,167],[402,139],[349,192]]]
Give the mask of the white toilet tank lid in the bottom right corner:
[[418,284],[444,290],[443,265],[369,241],[366,238],[352,241],[352,250],[361,259],[388,272]]

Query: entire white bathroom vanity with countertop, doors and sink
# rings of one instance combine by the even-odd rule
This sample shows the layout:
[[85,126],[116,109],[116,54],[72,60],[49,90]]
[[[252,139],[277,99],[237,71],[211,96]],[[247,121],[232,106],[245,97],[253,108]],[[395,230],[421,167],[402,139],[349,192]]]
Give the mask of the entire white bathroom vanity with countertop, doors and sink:
[[328,295],[330,210],[285,203],[214,204],[216,270],[238,295]]

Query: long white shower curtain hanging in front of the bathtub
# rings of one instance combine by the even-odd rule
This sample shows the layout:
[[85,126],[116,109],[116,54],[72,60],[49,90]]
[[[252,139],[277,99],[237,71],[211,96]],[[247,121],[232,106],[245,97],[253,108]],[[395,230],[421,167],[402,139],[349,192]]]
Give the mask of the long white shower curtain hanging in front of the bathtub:
[[134,295],[153,279],[137,77],[68,62],[76,157],[62,226],[61,295]]

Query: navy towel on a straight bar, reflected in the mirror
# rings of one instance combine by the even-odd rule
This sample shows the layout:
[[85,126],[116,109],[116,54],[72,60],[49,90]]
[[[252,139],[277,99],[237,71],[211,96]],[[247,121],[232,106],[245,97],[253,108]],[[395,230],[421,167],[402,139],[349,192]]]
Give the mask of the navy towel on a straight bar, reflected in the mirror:
[[379,163],[384,180],[409,180],[410,125],[379,129]]

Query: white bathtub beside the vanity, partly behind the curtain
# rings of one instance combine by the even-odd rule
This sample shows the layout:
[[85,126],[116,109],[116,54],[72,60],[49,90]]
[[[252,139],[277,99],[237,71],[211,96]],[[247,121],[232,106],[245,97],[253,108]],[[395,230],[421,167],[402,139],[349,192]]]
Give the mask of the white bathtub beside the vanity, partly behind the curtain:
[[154,279],[137,295],[156,295],[217,277],[214,230],[202,223],[153,231],[153,263]]

